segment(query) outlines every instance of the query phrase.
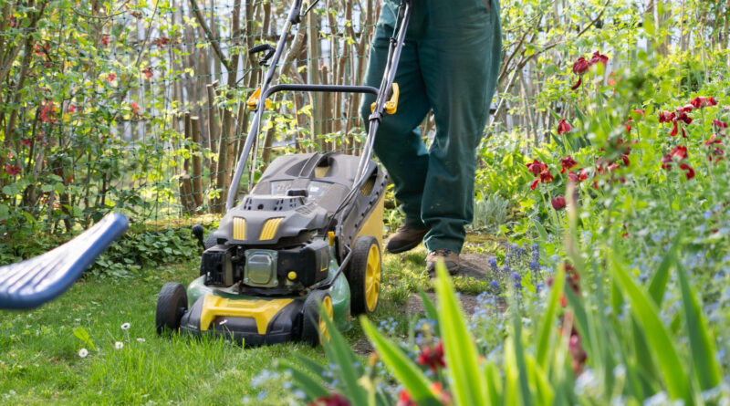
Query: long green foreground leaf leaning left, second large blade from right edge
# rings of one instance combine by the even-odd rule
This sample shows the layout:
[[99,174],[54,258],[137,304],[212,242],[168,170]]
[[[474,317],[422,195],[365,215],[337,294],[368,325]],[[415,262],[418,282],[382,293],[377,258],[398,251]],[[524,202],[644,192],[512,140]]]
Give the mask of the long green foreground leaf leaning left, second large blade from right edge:
[[683,399],[692,403],[690,386],[684,366],[679,354],[673,345],[673,338],[662,325],[659,310],[656,304],[631,279],[614,253],[610,255],[611,271],[619,286],[623,289],[631,303],[631,311],[636,317],[641,329],[646,333],[646,339],[652,349],[652,355],[659,363],[667,391],[672,399]]

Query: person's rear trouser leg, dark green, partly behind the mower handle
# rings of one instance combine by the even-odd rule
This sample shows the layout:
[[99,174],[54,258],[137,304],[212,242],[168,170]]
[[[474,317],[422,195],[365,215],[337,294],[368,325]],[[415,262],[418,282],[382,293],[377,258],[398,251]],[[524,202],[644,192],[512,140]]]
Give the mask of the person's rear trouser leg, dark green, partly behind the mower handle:
[[[396,15],[397,5],[391,1],[385,2],[370,46],[365,77],[365,84],[368,86],[381,86]],[[428,170],[428,151],[418,126],[430,107],[423,88],[416,43],[412,40],[412,33],[417,32],[418,28],[418,19],[412,19],[395,77],[401,90],[398,109],[393,115],[383,116],[373,151],[391,176],[395,185],[395,198],[402,203],[406,215],[405,223],[414,229],[423,230],[425,226],[421,221],[421,195]],[[373,101],[375,96],[368,94],[363,97],[360,105],[360,116],[366,129],[369,127],[370,104]],[[418,243],[422,234],[418,237]]]

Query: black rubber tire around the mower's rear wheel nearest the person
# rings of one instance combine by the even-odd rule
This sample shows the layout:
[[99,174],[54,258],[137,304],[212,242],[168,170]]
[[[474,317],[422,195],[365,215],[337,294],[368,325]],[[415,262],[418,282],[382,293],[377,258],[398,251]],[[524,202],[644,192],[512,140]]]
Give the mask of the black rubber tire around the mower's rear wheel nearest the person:
[[[378,308],[378,301],[375,302],[375,306],[372,308],[368,308],[367,302],[368,286],[366,276],[368,271],[368,255],[370,254],[370,246],[372,245],[378,248],[382,273],[381,245],[371,235],[362,235],[355,241],[355,245],[352,247],[352,258],[349,260],[348,267],[345,269],[345,276],[347,276],[349,283],[349,309],[353,316],[372,313]],[[378,297],[380,297],[380,294]]]

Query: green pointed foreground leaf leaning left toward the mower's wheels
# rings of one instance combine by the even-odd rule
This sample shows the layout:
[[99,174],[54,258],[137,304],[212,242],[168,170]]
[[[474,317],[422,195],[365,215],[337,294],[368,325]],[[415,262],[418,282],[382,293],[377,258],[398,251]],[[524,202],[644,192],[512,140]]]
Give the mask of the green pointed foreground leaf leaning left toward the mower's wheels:
[[[413,401],[420,405],[436,405],[439,402],[433,396],[431,382],[415,363],[391,340],[385,338],[364,316],[360,325],[365,335],[370,338],[372,346],[378,351],[383,363],[392,374],[405,386]],[[359,404],[359,403],[358,403]]]

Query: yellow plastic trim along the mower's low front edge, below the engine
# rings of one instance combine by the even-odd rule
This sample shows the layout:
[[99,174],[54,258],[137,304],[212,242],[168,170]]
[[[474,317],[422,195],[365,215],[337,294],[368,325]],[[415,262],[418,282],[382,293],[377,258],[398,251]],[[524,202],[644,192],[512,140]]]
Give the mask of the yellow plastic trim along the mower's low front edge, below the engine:
[[266,334],[268,323],[294,299],[235,300],[205,295],[200,314],[200,329],[206,331],[214,319],[221,316],[253,318],[258,334]]

